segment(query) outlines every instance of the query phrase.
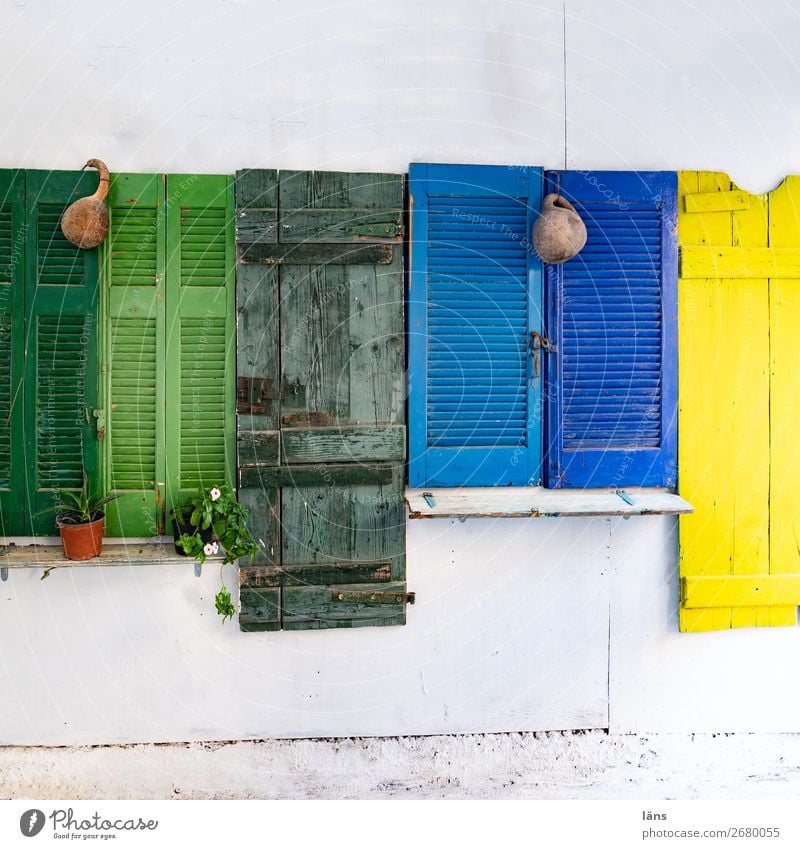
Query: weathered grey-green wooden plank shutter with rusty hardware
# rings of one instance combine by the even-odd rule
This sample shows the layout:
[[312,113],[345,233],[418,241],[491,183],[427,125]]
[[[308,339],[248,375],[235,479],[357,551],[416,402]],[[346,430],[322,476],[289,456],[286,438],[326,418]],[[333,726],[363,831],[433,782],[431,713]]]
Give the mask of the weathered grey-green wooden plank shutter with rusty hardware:
[[237,175],[246,631],[405,622],[402,175]]

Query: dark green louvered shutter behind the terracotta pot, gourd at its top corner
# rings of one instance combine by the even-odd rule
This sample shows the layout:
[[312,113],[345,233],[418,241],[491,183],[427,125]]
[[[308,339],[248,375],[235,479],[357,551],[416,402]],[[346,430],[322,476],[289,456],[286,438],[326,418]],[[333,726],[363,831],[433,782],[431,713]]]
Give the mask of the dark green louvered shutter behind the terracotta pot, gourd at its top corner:
[[25,284],[25,466],[27,532],[52,534],[54,490],[96,482],[97,250],[66,240],[61,216],[92,194],[97,175],[28,171]]

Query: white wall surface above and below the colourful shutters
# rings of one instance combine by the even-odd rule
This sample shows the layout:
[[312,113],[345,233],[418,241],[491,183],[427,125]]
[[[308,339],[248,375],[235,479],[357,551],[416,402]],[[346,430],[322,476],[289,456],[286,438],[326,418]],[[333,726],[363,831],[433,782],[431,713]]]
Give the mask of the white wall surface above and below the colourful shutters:
[[[567,0],[566,19],[560,0],[0,9],[0,166],[566,161],[727,169],[755,190],[800,170],[791,4]],[[675,531],[412,523],[405,629],[240,634],[213,613],[215,576],[188,566],[14,573],[0,742],[798,730],[800,632],[679,635]]]

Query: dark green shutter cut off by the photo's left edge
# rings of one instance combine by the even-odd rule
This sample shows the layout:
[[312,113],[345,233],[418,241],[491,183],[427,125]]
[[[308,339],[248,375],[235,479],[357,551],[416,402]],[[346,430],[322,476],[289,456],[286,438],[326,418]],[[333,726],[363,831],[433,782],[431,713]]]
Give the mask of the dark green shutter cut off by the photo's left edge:
[[25,172],[0,171],[0,535],[23,532]]

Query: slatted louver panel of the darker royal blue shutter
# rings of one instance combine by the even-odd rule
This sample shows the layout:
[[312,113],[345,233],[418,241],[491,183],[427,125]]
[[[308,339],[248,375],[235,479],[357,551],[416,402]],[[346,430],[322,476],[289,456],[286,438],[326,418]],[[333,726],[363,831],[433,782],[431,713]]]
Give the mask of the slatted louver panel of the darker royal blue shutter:
[[[586,224],[587,250],[567,263],[563,274],[564,450],[657,447],[660,204],[621,209],[583,203],[576,209]],[[618,348],[620,339],[632,344]],[[584,340],[590,344],[584,345]],[[612,395],[611,389],[636,392]]]

